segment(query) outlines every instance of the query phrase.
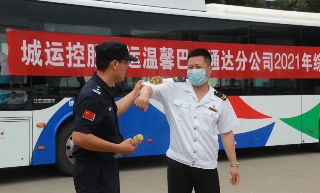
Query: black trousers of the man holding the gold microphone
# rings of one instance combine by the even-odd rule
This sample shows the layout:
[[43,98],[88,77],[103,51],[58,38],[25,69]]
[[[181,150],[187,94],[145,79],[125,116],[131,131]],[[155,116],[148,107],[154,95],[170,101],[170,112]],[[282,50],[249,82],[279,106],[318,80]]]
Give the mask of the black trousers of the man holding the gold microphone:
[[76,160],[73,181],[77,193],[120,193],[119,162],[94,164]]

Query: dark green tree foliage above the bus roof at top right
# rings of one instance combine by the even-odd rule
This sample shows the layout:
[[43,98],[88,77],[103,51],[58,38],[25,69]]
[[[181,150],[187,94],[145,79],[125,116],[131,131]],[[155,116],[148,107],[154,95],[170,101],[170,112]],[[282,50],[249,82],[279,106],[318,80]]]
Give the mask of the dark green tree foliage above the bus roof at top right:
[[[265,0],[205,0],[205,2],[206,4],[217,3],[266,8]],[[298,12],[320,12],[320,0],[276,0],[272,2],[270,8]]]

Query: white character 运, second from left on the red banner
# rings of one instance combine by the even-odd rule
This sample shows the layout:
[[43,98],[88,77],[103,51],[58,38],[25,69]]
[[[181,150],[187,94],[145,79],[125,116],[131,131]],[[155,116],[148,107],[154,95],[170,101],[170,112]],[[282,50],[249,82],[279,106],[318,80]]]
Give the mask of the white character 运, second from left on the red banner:
[[[52,48],[53,46],[62,46],[61,42],[52,42],[50,45],[50,42],[45,42],[47,45],[47,48],[50,49],[44,49],[44,52],[47,53],[47,60],[45,61],[45,65],[48,66],[48,64],[52,66],[64,66],[63,58],[61,56],[60,52],[63,52],[63,48]],[[51,52],[53,52],[53,56],[51,56]]]

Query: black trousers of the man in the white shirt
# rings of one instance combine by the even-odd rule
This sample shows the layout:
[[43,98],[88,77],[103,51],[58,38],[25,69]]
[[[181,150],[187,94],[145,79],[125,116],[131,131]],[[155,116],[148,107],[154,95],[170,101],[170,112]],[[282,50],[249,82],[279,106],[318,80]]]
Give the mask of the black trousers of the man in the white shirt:
[[168,158],[168,193],[220,193],[217,169],[191,167]]

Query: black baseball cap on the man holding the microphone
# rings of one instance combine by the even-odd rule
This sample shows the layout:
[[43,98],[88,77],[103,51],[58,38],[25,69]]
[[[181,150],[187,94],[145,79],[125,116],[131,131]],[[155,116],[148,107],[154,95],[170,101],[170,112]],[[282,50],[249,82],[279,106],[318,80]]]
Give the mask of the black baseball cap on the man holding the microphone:
[[127,46],[122,42],[106,41],[96,45],[97,63],[122,59],[134,62],[139,60],[129,54]]

